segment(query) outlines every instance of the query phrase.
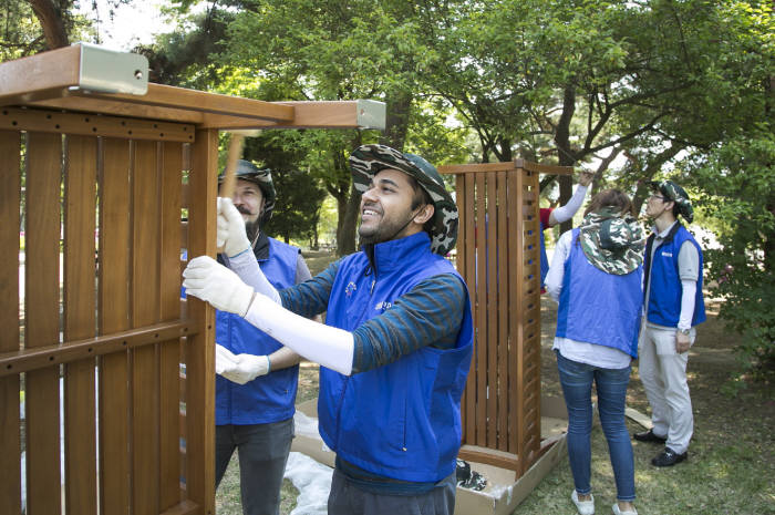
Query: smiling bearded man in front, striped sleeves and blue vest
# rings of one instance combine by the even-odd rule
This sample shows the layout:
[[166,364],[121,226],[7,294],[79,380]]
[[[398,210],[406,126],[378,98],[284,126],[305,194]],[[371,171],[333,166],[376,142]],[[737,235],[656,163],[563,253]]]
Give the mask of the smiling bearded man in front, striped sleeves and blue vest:
[[[337,453],[329,514],[452,515],[473,346],[467,288],[443,258],[457,208],[420,156],[363,145],[350,167],[362,194],[360,251],[279,292],[258,267],[257,278],[242,274],[254,289],[202,256],[184,286],[323,365],[319,429]],[[238,238],[234,208],[221,203],[218,216],[229,220],[224,239]],[[322,327],[302,318],[323,311]]]

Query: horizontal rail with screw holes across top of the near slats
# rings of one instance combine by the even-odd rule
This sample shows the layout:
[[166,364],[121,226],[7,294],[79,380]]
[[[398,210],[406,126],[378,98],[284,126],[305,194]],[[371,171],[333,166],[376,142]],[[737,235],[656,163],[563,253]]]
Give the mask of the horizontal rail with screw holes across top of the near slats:
[[183,143],[195,134],[190,124],[21,107],[0,107],[0,128]]

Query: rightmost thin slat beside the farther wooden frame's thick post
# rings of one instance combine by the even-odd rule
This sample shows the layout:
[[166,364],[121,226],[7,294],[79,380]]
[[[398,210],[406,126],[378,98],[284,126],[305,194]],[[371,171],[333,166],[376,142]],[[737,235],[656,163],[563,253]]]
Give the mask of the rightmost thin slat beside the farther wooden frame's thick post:
[[[510,231],[508,219],[508,203],[506,196],[507,172],[498,173],[496,188],[498,202],[498,442],[499,451],[508,451],[508,274],[513,266],[508,254],[508,234]],[[514,200],[512,200],[514,202]]]

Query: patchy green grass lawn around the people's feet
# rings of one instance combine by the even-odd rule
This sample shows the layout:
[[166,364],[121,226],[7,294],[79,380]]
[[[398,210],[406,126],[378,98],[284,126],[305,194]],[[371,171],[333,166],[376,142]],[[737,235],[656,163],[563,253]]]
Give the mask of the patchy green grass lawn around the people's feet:
[[[324,255],[312,255],[312,274],[328,264]],[[717,303],[709,303],[709,321],[700,326],[689,359],[689,387],[694,411],[694,437],[689,461],[670,468],[657,468],[651,459],[655,444],[633,441],[636,456],[636,504],[641,515],[674,514],[774,514],[775,515],[775,395],[772,384],[743,389],[736,398],[722,393],[735,367],[732,349],[738,337],[724,331],[716,320]],[[560,394],[551,340],[556,308],[541,301],[541,387]],[[317,368],[300,372],[301,402],[317,395]],[[637,363],[628,391],[628,405],[650,413]],[[628,421],[630,432],[641,426]],[[240,514],[239,473],[234,457],[216,494],[217,513]],[[570,501],[574,482],[567,460],[562,460],[538,487],[517,507],[515,514],[576,514]],[[599,424],[592,432],[592,491],[599,514],[610,514],[616,490],[606,439]],[[296,506],[298,492],[286,480],[282,514]],[[397,514],[396,514],[397,515]]]

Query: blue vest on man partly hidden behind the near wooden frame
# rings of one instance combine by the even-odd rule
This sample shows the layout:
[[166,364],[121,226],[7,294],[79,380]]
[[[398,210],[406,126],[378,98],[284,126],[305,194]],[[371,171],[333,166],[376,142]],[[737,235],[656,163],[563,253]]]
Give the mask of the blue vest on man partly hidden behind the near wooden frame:
[[[299,249],[269,238],[269,258],[258,264],[275,288],[296,284]],[[271,354],[282,344],[246,322],[238,315],[216,311],[215,341],[235,354]],[[216,425],[248,425],[280,422],[296,412],[299,367],[271,371],[246,384],[237,384],[220,375],[215,383]]]

